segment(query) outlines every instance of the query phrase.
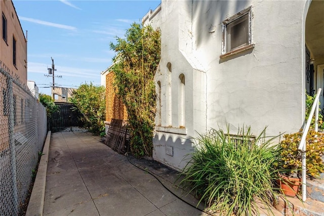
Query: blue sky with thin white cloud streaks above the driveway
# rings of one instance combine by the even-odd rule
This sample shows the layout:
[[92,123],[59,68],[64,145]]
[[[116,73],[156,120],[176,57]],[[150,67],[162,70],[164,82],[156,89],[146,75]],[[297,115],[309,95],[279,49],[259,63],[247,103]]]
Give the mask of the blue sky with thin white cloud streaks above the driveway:
[[156,1],[29,1],[13,0],[26,36],[28,80],[39,93],[51,95],[48,67],[54,59],[55,85],[77,88],[100,84],[100,73],[111,65],[110,41],[123,37],[131,23],[154,10]]

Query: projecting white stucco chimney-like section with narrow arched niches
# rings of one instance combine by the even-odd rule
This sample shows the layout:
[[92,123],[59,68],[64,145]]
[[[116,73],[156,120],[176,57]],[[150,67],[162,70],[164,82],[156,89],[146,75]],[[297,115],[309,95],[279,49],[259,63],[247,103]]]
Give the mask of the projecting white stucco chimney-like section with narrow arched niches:
[[176,169],[193,149],[190,137],[206,130],[206,73],[193,55],[189,1],[162,1],[161,60],[155,74],[153,158]]

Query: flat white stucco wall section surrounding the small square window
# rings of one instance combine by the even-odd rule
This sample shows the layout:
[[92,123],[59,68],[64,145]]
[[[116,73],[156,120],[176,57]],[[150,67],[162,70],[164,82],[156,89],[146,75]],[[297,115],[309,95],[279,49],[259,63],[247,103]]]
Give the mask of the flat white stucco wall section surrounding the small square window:
[[[254,49],[223,59],[222,22],[252,6]],[[270,136],[304,119],[304,1],[196,1],[195,56],[207,67],[207,127],[251,125]],[[202,16],[204,14],[204,16]]]

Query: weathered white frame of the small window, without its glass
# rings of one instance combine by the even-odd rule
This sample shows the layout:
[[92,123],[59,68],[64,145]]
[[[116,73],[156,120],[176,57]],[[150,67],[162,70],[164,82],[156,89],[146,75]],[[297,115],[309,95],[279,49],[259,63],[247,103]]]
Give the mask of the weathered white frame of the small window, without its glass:
[[[246,18],[247,16],[247,18]],[[235,48],[233,48],[232,50],[228,50],[227,46],[229,44],[229,39],[228,36],[228,25],[233,24],[236,22],[236,24],[241,23],[240,20],[244,21],[245,19],[248,19],[248,42],[246,44],[242,44],[241,46],[237,46]],[[237,14],[231,16],[230,18],[224,20],[222,22],[222,57],[231,55],[231,54],[235,54],[237,52],[243,51],[243,50],[247,50],[254,47],[254,45],[252,44],[252,6],[250,6],[247,9],[244,9],[240,12],[238,12]]]

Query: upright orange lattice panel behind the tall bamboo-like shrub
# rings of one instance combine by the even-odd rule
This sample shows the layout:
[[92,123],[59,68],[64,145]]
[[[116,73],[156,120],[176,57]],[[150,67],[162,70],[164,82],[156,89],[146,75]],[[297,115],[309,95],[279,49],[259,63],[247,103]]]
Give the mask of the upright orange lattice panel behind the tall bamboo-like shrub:
[[115,74],[111,71],[106,75],[106,121],[111,119],[127,120],[126,107],[121,102],[113,87]]

